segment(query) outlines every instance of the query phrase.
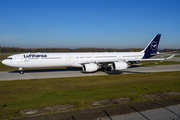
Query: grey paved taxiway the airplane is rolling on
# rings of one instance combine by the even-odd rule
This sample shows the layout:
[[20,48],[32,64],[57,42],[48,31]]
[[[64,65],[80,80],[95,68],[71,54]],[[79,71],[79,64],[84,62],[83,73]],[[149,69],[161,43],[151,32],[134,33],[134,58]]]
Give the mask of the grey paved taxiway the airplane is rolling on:
[[130,74],[130,73],[147,73],[147,72],[164,72],[164,71],[180,71],[180,65],[165,65],[165,66],[148,66],[148,67],[131,67],[124,71],[110,72],[94,72],[82,73],[80,69],[54,69],[54,70],[29,70],[24,71],[23,75],[19,72],[0,72],[0,81],[3,80],[24,80],[24,79],[39,79],[39,78],[58,78],[58,77],[76,77],[76,76],[95,76],[109,74]]

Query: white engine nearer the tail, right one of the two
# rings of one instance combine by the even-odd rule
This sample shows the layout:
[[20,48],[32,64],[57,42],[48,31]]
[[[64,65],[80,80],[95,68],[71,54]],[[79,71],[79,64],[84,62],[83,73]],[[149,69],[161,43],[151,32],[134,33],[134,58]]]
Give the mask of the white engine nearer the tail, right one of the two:
[[128,64],[124,61],[114,62],[112,63],[113,70],[125,70],[128,68]]

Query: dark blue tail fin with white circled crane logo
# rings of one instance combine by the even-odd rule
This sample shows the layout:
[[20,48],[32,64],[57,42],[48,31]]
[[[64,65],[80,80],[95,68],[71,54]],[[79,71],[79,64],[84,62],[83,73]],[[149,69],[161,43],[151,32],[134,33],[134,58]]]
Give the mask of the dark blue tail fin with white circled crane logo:
[[147,47],[142,51],[142,52],[144,52],[143,58],[150,58],[157,54],[160,37],[161,37],[161,34],[157,34],[151,40],[151,42],[147,45]]

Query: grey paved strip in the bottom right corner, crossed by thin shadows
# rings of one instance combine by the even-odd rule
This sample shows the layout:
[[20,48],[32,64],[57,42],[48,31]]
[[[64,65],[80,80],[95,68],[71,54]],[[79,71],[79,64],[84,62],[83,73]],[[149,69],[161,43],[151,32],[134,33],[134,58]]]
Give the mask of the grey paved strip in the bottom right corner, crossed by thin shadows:
[[144,112],[137,111],[137,113],[109,117],[101,120],[180,120],[180,105]]

